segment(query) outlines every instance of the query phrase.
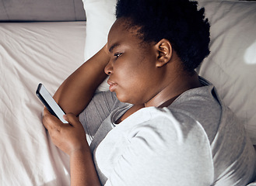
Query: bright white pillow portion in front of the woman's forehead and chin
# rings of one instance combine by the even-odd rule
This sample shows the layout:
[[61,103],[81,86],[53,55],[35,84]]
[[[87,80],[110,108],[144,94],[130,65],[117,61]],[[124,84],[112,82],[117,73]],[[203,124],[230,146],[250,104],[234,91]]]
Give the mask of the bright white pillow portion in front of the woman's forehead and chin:
[[[82,0],[86,11],[85,61],[98,52],[107,43],[107,34],[115,21],[117,0]],[[107,91],[104,81],[97,91]]]

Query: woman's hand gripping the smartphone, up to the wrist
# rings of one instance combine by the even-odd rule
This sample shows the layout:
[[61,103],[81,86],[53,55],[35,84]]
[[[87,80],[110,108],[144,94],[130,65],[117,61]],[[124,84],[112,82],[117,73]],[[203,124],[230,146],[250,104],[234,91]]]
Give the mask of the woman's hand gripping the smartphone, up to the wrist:
[[77,150],[89,150],[86,134],[79,119],[72,113],[64,115],[64,119],[68,124],[61,122],[51,115],[47,108],[44,108],[43,124],[48,130],[52,142],[69,156]]

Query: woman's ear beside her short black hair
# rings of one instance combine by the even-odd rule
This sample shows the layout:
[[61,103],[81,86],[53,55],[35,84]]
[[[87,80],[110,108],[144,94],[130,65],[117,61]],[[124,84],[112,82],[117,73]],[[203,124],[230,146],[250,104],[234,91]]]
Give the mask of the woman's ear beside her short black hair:
[[156,67],[167,64],[172,57],[172,47],[169,40],[162,39],[155,45],[157,51]]

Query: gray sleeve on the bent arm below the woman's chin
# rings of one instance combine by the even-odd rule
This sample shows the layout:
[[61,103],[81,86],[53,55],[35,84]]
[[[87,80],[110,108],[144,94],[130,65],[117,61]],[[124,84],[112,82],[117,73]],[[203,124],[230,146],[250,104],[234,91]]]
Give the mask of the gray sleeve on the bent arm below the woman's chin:
[[97,129],[99,129],[104,119],[110,115],[111,110],[115,107],[117,100],[116,95],[110,91],[98,92],[93,96],[89,105],[80,113],[79,120],[86,132],[88,143],[93,140]]

